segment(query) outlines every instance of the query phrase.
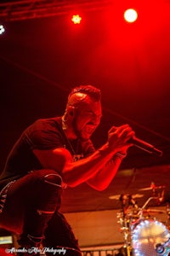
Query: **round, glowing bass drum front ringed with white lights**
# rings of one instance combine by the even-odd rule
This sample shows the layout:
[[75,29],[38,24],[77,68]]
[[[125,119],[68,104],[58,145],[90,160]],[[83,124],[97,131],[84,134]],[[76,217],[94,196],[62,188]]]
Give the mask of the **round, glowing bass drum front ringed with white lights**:
[[170,256],[170,234],[164,224],[143,219],[131,226],[134,256]]

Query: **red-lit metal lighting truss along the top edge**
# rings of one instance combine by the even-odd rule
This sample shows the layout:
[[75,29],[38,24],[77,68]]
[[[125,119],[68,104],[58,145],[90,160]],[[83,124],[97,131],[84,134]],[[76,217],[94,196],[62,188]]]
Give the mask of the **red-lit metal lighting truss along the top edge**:
[[0,3],[0,21],[28,20],[67,14],[71,9],[103,9],[111,0],[22,0]]

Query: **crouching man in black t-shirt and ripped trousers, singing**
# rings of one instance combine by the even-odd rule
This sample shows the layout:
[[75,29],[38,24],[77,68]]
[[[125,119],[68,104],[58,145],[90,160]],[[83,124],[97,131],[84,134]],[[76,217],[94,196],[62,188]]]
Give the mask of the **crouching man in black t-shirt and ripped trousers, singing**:
[[66,255],[80,255],[71,227],[59,212],[62,189],[81,183],[107,188],[134,135],[129,125],[113,126],[107,142],[94,150],[90,137],[100,118],[100,90],[79,86],[71,90],[62,117],[37,120],[14,144],[1,176],[0,226],[20,234],[20,248],[70,247]]

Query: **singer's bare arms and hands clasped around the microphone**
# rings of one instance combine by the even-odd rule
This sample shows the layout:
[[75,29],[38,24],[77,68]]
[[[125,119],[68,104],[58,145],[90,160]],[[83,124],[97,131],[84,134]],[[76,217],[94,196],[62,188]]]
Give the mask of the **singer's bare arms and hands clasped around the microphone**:
[[132,134],[133,131],[128,125],[122,125],[118,128],[112,127],[108,133],[108,142],[96,150],[94,154],[77,162],[72,162],[71,154],[65,148],[55,148],[54,150],[34,149],[33,152],[43,168],[52,168],[56,172],[62,173],[64,182],[69,186],[75,187],[88,181],[88,184],[93,188],[101,190],[104,188],[103,182],[107,185],[111,182],[121,161],[119,160],[118,164],[115,165],[114,172],[106,167],[107,163],[117,152],[127,150],[130,146],[127,140],[132,137]]

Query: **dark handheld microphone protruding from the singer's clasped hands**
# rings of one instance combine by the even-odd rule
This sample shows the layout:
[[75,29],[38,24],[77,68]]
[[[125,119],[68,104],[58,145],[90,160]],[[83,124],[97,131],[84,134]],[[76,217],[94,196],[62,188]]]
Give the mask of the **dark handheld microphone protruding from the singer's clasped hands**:
[[144,151],[150,153],[150,154],[156,154],[158,156],[161,156],[163,154],[163,152],[158,149],[155,148],[153,145],[151,145],[150,143],[146,143],[143,140],[139,139],[138,137],[133,136],[132,138],[130,138],[128,140],[128,143],[133,143],[133,145],[137,148],[141,148]]

